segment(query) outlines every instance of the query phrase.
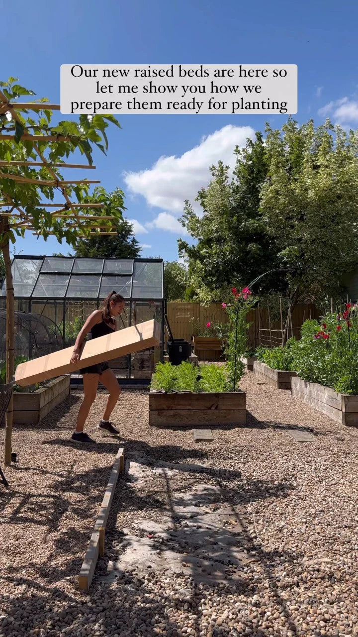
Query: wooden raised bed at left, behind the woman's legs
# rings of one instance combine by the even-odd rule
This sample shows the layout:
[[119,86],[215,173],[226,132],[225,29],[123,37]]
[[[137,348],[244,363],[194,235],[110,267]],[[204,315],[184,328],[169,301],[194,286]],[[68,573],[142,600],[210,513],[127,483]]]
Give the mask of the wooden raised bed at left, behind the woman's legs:
[[70,393],[70,375],[59,376],[40,387],[36,391],[14,392],[13,422],[14,424],[36,425]]

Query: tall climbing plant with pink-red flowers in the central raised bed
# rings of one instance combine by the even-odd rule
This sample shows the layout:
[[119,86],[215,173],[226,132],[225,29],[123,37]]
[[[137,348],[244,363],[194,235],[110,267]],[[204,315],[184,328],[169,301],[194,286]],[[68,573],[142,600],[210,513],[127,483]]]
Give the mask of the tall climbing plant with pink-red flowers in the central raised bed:
[[245,369],[242,359],[247,349],[249,324],[246,317],[248,311],[254,306],[255,299],[248,287],[244,287],[241,292],[233,287],[231,293],[227,303],[222,303],[222,307],[226,309],[229,316],[224,353],[227,359],[229,385],[232,391],[236,391]]

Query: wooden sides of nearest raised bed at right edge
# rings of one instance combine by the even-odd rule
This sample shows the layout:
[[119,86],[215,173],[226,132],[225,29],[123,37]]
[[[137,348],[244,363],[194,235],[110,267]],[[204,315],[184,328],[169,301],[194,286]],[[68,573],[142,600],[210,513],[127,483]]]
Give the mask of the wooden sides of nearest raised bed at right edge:
[[358,426],[357,394],[339,394],[331,387],[292,378],[292,396],[343,425]]

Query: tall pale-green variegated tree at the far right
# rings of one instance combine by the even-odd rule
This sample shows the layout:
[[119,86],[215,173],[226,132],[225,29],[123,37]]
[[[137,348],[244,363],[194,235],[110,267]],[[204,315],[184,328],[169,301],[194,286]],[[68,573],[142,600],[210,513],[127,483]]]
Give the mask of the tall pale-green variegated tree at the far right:
[[266,125],[268,178],[262,220],[288,275],[292,304],[339,294],[341,275],[358,263],[358,131],[292,118]]

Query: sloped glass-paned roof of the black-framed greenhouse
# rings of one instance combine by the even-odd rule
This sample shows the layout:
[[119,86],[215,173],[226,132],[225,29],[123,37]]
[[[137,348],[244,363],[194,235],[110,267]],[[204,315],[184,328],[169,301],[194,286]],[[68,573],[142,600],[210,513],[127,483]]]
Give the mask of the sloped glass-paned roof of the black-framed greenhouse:
[[[163,299],[162,259],[102,259],[15,255],[14,294],[32,299],[103,299],[111,290],[125,299]],[[3,282],[0,296],[6,296]]]

